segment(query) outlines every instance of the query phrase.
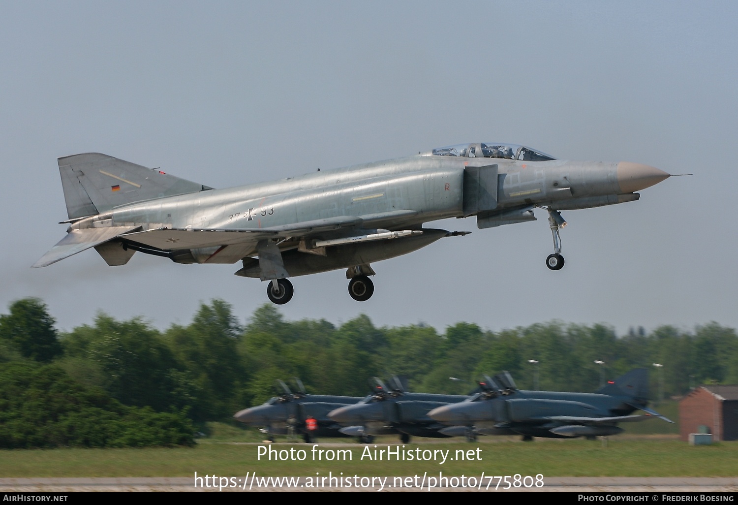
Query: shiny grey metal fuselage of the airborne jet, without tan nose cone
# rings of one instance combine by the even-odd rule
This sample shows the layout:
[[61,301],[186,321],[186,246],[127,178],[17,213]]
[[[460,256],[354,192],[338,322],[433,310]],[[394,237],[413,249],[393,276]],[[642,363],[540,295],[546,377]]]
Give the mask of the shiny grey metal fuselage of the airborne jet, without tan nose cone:
[[[497,205],[531,203],[559,210],[618,203],[617,163],[519,162],[416,156],[321,171],[314,174],[221,190],[207,190],[139,202],[113,210],[115,226],[162,224],[173,228],[241,230],[275,227],[339,216],[390,216],[396,230],[449,217],[463,217],[464,170],[498,165]],[[613,196],[612,199],[597,199]],[[590,199],[585,199],[590,198]],[[558,205],[557,205],[558,204]],[[494,209],[490,209],[494,210]],[[472,214],[473,215],[473,214]],[[83,224],[80,222],[80,226]]]

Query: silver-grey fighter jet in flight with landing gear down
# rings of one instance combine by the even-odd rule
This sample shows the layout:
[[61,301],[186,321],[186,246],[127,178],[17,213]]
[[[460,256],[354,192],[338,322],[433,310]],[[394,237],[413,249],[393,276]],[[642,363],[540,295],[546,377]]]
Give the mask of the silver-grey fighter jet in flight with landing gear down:
[[346,270],[348,292],[368,300],[373,262],[439,238],[430,221],[477,217],[477,227],[534,221],[548,211],[554,252],[564,266],[560,210],[638,200],[636,191],[670,176],[631,162],[574,162],[520,145],[472,143],[415,156],[317,171],[277,182],[213,189],[106,154],[58,159],[69,219],[67,236],[33,267],[94,247],[108,265],[136,251],[176,263],[236,263],[236,275],[270,281],[267,295],[287,303],[288,280]]

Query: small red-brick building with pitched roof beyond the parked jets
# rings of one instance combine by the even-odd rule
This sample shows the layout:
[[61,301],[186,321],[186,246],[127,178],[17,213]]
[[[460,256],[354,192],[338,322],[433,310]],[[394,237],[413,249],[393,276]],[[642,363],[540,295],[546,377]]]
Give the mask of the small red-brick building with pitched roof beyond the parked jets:
[[679,402],[679,431],[689,433],[706,426],[714,441],[738,440],[738,385],[701,385]]

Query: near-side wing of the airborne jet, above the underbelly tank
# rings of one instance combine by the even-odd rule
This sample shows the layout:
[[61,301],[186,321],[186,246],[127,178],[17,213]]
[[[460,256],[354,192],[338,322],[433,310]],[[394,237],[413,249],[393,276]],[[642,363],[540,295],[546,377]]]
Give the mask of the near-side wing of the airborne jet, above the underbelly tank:
[[198,247],[217,247],[244,242],[257,242],[263,238],[304,237],[314,233],[338,230],[339,228],[353,227],[360,224],[376,224],[390,219],[399,219],[413,215],[415,215],[415,211],[412,210],[396,210],[367,216],[337,216],[334,218],[285,224],[283,226],[241,230],[157,228],[156,230],[127,233],[125,238],[162,250],[195,249]]

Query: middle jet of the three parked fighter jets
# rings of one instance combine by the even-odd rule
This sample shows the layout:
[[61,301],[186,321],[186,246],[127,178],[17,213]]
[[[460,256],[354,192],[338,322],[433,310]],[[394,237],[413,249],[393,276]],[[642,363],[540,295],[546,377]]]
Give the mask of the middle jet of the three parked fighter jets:
[[393,388],[375,379],[372,394],[355,405],[346,405],[328,413],[328,417],[339,425],[339,431],[358,436],[362,442],[371,442],[375,435],[399,433],[403,443],[410,436],[446,438],[453,435],[441,433],[444,425],[428,417],[428,412],[441,405],[463,402],[468,396],[456,394],[408,393],[407,387],[393,377]]

